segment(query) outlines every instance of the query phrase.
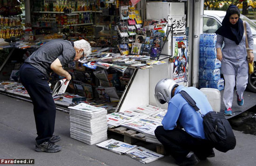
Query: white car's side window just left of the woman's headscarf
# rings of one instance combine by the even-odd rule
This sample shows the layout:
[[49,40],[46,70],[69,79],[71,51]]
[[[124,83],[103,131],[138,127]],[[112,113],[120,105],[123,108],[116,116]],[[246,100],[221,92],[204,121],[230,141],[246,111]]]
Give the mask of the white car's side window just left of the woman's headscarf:
[[215,33],[221,25],[213,18],[203,17],[203,33]]

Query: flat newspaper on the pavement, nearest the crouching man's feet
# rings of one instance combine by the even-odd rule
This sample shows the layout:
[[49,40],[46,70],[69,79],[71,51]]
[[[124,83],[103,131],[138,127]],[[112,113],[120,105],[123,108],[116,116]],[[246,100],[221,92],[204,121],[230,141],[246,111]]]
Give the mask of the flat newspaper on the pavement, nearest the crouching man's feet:
[[133,159],[136,159],[136,160],[144,163],[144,164],[150,163],[152,161],[155,161],[157,159],[161,159],[164,157],[162,154],[155,153],[155,152],[150,151],[141,146],[139,146],[133,150],[130,150],[125,154]]

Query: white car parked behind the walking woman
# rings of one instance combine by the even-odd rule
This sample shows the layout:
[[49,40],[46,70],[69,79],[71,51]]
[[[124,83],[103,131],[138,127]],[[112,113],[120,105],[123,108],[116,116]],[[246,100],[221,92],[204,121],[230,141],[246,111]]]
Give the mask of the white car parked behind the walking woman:
[[[203,33],[215,33],[216,30],[222,26],[222,20],[226,15],[226,11],[204,10],[203,14]],[[248,22],[250,25],[254,40],[254,63],[256,64],[256,24],[243,14],[240,14],[240,18]],[[254,72],[249,74],[247,87],[250,91],[256,93],[256,67],[254,67]]]

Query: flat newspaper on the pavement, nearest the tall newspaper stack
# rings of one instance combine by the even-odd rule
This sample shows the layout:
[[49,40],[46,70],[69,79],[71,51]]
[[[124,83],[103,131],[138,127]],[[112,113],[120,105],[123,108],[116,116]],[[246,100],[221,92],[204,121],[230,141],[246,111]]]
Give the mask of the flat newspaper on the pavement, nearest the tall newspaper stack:
[[96,144],[96,146],[99,146],[103,149],[107,149],[107,150],[117,153],[117,154],[126,153],[126,152],[133,150],[134,148],[137,147],[136,145],[130,145],[128,143],[121,142],[121,141],[118,141],[115,139],[106,140],[104,142]]

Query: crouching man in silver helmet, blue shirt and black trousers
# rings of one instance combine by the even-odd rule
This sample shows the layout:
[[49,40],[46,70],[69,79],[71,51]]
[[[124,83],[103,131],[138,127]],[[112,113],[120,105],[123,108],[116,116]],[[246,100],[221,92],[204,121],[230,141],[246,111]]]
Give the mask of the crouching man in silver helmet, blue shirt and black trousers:
[[155,86],[155,99],[160,104],[168,103],[168,111],[162,120],[163,126],[155,129],[156,138],[180,166],[191,166],[200,159],[214,157],[213,146],[205,138],[202,117],[180,94],[187,92],[196,102],[202,114],[212,111],[205,94],[195,87],[178,85],[174,80],[163,79]]

